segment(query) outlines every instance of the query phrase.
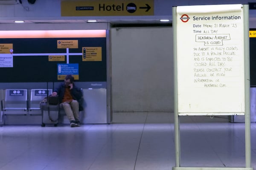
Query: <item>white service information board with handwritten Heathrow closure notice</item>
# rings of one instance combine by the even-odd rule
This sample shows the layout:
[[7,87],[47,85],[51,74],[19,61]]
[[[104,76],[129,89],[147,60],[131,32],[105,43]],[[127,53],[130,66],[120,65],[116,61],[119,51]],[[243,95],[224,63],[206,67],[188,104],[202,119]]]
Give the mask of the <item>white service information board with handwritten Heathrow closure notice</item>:
[[241,4],[176,9],[179,115],[244,115]]

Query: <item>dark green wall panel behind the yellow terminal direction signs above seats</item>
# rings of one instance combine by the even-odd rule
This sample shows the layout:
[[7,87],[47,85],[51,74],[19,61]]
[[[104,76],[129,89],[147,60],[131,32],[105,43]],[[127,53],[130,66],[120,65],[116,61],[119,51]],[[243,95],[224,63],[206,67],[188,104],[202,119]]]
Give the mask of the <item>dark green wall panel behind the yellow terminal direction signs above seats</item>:
[[106,82],[107,59],[106,38],[27,38],[0,39],[0,43],[12,43],[14,54],[35,54],[14,56],[13,68],[0,68],[0,82],[56,82],[57,64],[65,61],[48,61],[48,55],[40,53],[66,53],[66,48],[57,48],[57,40],[78,40],[78,48],[69,53],[81,53],[82,47],[102,47],[102,61],[82,61],[82,56],[69,55],[69,63],[79,64],[79,82]]

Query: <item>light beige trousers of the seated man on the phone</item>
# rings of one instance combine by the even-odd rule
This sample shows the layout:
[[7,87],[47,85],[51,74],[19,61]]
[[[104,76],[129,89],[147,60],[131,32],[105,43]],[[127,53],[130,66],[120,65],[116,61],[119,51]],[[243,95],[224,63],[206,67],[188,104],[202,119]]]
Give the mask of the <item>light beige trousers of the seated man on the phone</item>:
[[72,100],[72,102],[63,102],[60,104],[60,107],[64,108],[70,121],[79,120],[79,103],[76,100]]

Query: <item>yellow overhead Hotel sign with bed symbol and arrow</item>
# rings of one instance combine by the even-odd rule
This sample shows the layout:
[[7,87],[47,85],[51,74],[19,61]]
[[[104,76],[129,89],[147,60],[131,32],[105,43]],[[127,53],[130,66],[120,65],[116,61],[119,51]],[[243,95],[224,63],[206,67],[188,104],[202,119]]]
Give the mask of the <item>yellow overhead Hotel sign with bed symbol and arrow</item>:
[[154,15],[154,0],[61,1],[61,17]]

